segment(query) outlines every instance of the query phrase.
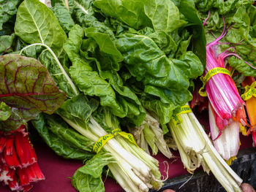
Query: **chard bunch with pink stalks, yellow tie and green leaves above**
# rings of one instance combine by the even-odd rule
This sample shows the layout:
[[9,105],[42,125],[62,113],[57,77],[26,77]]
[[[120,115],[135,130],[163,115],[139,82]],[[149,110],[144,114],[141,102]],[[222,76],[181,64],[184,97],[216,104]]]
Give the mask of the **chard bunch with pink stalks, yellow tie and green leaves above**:
[[205,75],[208,72],[208,78],[203,80],[206,82],[204,95],[210,101],[211,137],[214,147],[228,160],[238,152],[238,131],[240,124],[246,125],[246,115],[245,103],[231,78],[232,72],[227,69],[236,70],[244,76],[256,74],[256,36],[252,30],[256,9],[249,0],[197,0],[195,4],[200,18],[205,20],[208,42],[205,72]]

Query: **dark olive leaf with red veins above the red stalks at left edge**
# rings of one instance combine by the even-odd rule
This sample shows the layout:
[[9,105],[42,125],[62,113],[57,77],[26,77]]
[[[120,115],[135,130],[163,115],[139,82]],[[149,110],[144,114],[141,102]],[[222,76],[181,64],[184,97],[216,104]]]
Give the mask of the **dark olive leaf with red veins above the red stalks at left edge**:
[[15,130],[39,112],[52,114],[65,99],[45,66],[21,55],[0,56],[0,101],[12,107],[12,115],[0,128]]

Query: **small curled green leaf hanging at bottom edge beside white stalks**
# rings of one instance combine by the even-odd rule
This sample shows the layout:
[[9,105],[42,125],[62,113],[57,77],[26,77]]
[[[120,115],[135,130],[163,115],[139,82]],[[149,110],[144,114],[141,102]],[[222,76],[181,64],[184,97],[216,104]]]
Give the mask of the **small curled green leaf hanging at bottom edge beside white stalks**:
[[110,153],[94,155],[94,158],[91,158],[86,165],[75,172],[72,177],[72,185],[80,192],[104,192],[102,169],[111,162],[115,162],[115,159]]

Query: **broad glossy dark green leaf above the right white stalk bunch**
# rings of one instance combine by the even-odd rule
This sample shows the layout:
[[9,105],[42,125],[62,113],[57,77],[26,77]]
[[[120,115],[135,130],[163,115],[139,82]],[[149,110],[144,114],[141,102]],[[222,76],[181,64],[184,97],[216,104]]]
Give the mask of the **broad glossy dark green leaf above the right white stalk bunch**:
[[[178,109],[178,106],[192,99],[191,93],[187,90],[189,78],[195,78],[203,73],[203,65],[200,65],[200,60],[194,53],[187,52],[180,60],[169,59],[151,38],[137,34],[121,36],[116,40],[116,47],[123,54],[125,66],[132,76],[145,85],[143,91],[157,96],[162,103],[169,104],[169,110]],[[156,104],[159,102],[148,102],[146,101],[146,106],[154,106],[154,112],[162,112],[157,110],[162,108],[157,107]],[[170,113],[157,115],[168,122]]]

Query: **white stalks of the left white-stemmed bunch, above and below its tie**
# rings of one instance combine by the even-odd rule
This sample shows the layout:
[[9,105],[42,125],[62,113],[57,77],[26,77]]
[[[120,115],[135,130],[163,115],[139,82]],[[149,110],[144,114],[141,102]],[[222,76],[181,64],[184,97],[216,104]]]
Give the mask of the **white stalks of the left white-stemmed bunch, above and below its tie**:
[[[90,117],[88,127],[62,117],[70,126],[75,128],[80,134],[97,142],[99,137],[108,134],[94,118]],[[108,164],[110,171],[116,181],[127,192],[147,192],[150,188],[159,189],[163,183],[158,169],[158,161],[135,146],[127,143],[123,138],[116,136],[110,139],[104,150],[110,152],[116,163]]]

